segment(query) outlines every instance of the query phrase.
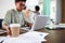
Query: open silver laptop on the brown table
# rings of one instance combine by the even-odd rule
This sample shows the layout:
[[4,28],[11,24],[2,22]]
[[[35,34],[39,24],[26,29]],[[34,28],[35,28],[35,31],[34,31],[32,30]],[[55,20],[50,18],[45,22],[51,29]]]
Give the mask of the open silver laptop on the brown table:
[[30,29],[29,27],[23,27],[22,29],[29,31],[29,30],[38,30],[38,29],[44,28],[48,19],[49,19],[49,16],[47,15],[38,15]]

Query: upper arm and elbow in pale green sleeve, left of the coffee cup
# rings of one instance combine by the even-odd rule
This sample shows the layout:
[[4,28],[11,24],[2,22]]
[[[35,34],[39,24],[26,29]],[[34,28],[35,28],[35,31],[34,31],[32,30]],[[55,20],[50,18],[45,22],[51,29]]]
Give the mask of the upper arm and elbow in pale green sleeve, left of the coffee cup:
[[8,29],[10,23],[11,23],[11,13],[6,12],[5,17],[4,17],[3,22],[2,22],[2,28]]

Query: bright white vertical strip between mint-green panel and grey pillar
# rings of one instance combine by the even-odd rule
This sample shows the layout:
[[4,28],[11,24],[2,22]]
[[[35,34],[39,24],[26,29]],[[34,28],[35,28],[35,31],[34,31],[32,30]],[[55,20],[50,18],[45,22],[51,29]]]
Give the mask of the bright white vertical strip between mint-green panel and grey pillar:
[[51,0],[50,3],[50,18],[55,22],[56,16],[56,0]]

